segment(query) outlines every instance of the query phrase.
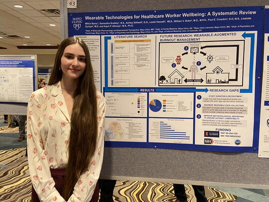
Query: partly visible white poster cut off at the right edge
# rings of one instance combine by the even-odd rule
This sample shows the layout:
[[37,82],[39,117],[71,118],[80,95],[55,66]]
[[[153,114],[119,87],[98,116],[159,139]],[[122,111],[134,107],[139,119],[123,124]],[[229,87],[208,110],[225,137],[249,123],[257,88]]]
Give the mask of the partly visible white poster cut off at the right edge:
[[[269,6],[265,9],[269,19]],[[269,158],[269,21],[265,24],[259,157]]]

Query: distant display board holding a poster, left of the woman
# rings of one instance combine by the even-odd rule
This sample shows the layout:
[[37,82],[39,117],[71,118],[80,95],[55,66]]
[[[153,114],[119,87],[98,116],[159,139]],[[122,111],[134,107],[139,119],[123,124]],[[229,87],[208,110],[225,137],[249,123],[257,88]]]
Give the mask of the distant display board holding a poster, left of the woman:
[[37,83],[35,54],[0,55],[0,113],[26,115],[27,102]]

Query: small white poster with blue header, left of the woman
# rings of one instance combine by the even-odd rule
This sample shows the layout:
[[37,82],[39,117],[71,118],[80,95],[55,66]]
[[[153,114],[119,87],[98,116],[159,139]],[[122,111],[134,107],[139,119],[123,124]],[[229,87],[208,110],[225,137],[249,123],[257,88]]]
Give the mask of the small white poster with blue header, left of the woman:
[[0,60],[0,102],[28,102],[34,91],[34,66],[34,60]]

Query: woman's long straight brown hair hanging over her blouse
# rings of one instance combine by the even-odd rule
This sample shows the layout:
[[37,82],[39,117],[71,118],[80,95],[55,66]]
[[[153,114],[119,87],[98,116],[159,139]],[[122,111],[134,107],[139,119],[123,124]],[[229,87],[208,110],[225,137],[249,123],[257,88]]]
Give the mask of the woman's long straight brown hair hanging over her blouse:
[[95,152],[97,140],[97,103],[93,68],[87,45],[78,37],[64,39],[56,53],[54,67],[48,85],[62,79],[61,57],[66,46],[79,43],[86,55],[86,68],[79,77],[79,85],[74,93],[71,116],[71,130],[68,146],[68,163],[65,172],[63,198],[67,201],[72,195],[79,177],[88,169]]

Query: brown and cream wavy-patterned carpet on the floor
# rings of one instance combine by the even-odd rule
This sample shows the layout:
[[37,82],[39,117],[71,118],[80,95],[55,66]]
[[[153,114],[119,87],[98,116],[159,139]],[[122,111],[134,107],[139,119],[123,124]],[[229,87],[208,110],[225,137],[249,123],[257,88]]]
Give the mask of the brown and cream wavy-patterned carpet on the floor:
[[[185,185],[188,202],[196,202],[191,186]],[[209,202],[235,202],[237,197],[205,187]],[[173,202],[171,184],[117,181],[115,202]],[[31,182],[25,148],[0,151],[0,202],[30,202]]]

